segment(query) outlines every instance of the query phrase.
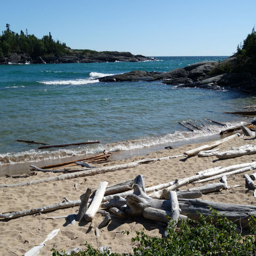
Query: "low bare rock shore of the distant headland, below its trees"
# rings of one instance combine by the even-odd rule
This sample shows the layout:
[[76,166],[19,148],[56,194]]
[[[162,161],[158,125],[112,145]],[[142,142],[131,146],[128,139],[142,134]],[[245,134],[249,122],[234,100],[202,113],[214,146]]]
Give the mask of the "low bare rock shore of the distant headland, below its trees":
[[93,54],[70,53],[65,55],[47,55],[31,58],[29,54],[11,53],[8,58],[1,57],[0,64],[45,64],[45,63],[91,63],[91,62],[115,62],[115,61],[151,61],[152,57],[133,55],[130,52],[95,52]]

